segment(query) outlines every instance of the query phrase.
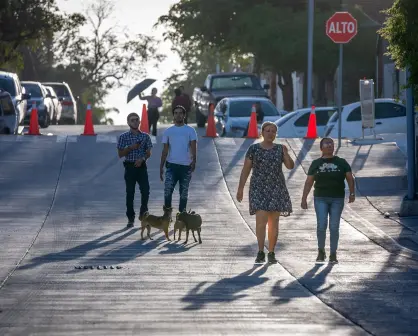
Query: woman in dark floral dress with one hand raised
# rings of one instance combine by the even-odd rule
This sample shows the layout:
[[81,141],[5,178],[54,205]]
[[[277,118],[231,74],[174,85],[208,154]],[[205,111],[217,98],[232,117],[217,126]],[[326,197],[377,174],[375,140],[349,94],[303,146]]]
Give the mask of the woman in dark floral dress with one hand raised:
[[279,217],[287,217],[292,212],[292,202],[286,187],[282,165],[293,169],[294,161],[285,145],[274,143],[277,126],[265,122],[261,127],[263,141],[252,144],[245,155],[241,171],[237,200],[241,202],[244,186],[252,170],[249,188],[250,215],[255,215],[258,253],[256,263],[265,262],[264,241],[268,223],[268,262],[276,263],[275,247],[279,234]]

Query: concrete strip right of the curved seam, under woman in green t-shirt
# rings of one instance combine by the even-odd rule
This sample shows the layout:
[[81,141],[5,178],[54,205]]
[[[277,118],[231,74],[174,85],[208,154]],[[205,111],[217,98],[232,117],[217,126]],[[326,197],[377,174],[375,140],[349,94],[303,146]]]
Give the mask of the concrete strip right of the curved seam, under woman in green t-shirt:
[[[253,141],[216,139],[215,142],[224,177],[234,197],[235,205],[255,232],[255,218],[248,212],[249,181],[245,188],[244,201],[240,204],[235,200],[245,151]],[[289,145],[291,142],[285,143]],[[295,144],[292,143],[292,148],[294,147]],[[304,155],[300,150],[295,150],[295,153]],[[296,155],[293,155],[293,158],[296,159]],[[309,161],[305,155],[301,161],[303,167],[297,164],[292,171],[285,171],[294,213],[280,221],[277,249],[280,264],[324,303],[371,334],[388,336],[416,334],[418,262],[403,257],[402,254],[409,255],[407,251],[399,250],[394,242],[387,241],[387,237],[380,237],[380,239],[386,241],[385,247],[389,246],[388,249],[392,253],[360,232],[356,227],[358,223],[354,225],[352,218],[362,222],[363,226],[364,220],[348,206],[341,222],[338,253],[340,263],[335,266],[315,263],[316,218],[313,211],[312,193],[308,200],[309,209],[301,210],[300,208],[303,184],[306,179],[303,168],[309,165]],[[367,233],[371,236],[378,235],[379,231],[374,226],[378,223],[369,224],[367,230],[371,233]],[[327,254],[329,254],[328,246],[329,231]],[[282,284],[281,288],[286,289],[288,285]]]

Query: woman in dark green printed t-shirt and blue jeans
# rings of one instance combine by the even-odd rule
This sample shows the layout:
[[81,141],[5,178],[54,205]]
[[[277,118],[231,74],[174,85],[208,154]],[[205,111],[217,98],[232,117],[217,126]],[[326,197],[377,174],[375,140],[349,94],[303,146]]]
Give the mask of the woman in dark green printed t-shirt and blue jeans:
[[316,261],[324,261],[325,239],[329,218],[330,231],[330,262],[338,262],[337,248],[340,231],[340,218],[344,209],[345,184],[350,189],[349,203],[354,202],[354,177],[346,160],[334,155],[334,141],[323,138],[319,144],[322,156],[312,162],[306,177],[302,195],[302,209],[308,208],[307,197],[314,185],[314,206],[316,212],[318,239],[318,257]]

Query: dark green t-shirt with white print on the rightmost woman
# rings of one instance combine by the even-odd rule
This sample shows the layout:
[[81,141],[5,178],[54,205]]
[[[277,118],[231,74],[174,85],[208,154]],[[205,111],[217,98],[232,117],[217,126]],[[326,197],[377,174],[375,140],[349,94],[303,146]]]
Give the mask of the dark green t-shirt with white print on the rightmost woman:
[[348,162],[338,156],[314,160],[308,170],[315,179],[314,196],[344,198],[345,174],[350,171]]

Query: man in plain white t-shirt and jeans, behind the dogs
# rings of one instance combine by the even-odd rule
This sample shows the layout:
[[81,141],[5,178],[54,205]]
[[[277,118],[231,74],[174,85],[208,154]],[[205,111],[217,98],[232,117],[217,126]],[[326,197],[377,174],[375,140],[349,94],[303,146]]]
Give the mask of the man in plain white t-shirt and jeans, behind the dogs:
[[192,172],[196,167],[197,134],[193,127],[184,123],[186,109],[181,106],[173,108],[174,125],[164,131],[161,153],[160,179],[164,181],[164,207],[171,208],[174,188],[179,183],[179,212],[186,210],[189,195],[189,184]]

